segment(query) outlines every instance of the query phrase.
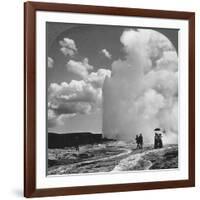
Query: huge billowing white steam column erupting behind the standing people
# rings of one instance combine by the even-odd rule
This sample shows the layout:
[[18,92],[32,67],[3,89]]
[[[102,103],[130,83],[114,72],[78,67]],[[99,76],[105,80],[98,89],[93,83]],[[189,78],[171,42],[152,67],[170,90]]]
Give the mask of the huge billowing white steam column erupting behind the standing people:
[[142,133],[153,142],[153,130],[166,130],[164,140],[177,142],[178,57],[167,37],[147,29],[123,32],[126,57],[114,61],[103,86],[103,133],[134,139]]

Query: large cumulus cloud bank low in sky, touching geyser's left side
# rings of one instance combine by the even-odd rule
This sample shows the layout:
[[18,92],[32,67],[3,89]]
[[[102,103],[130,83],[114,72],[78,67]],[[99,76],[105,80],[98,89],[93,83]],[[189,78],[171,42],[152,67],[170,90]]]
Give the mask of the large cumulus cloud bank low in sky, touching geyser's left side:
[[110,70],[98,69],[84,76],[83,80],[70,83],[52,83],[48,88],[48,124],[53,127],[66,117],[90,114],[102,106],[102,86]]

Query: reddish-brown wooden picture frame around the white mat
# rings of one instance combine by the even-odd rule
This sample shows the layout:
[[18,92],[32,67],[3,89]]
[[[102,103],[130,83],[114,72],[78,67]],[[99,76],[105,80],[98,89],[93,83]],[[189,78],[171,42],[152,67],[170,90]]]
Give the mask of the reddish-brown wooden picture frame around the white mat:
[[[189,142],[188,179],[140,183],[117,183],[77,187],[36,187],[36,12],[69,12],[155,19],[179,19],[189,23]],[[123,192],[195,185],[195,14],[192,12],[116,8],[59,3],[24,4],[24,196],[44,197],[89,193]]]

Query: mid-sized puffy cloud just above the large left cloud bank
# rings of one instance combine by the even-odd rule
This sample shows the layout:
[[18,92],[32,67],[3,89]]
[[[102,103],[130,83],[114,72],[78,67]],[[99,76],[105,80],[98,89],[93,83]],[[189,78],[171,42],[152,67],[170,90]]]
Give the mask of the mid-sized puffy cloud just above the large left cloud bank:
[[72,72],[81,78],[87,77],[89,71],[93,69],[93,66],[88,63],[88,58],[84,58],[82,62],[69,60],[66,67],[69,72]]

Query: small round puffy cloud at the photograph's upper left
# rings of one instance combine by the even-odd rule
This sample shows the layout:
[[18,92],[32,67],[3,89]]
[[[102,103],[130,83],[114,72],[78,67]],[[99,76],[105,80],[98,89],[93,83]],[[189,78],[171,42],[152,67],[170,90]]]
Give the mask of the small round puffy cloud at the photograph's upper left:
[[60,51],[65,56],[73,56],[78,51],[74,40],[70,38],[64,38],[63,40],[60,40],[59,44],[61,46]]

